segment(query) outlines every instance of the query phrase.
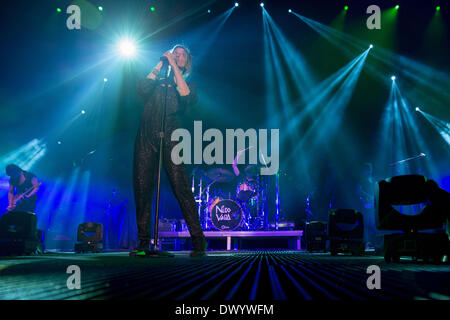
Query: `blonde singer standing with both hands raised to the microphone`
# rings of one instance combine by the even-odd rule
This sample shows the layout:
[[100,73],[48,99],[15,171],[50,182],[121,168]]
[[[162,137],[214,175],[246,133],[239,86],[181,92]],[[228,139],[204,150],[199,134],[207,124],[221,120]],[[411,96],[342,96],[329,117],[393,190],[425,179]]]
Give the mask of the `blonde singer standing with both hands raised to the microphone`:
[[[151,201],[158,176],[160,132],[163,132],[162,165],[191,235],[193,250],[190,256],[205,255],[207,243],[186,171],[183,164],[175,165],[170,156],[176,144],[170,139],[171,133],[181,127],[183,115],[197,98],[195,86],[185,80],[191,69],[189,50],[176,45],[164,53],[152,72],[138,84],[137,91],[145,106],[134,148],[133,188],[139,244],[132,253],[141,252],[143,255],[142,252],[149,249]],[[162,118],[165,120],[163,131]]]

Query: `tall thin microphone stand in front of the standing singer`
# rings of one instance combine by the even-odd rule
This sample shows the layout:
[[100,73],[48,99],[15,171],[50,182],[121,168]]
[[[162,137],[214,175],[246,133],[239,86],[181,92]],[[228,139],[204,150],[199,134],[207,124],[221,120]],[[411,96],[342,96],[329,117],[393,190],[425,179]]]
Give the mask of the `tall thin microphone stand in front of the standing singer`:
[[153,236],[153,245],[152,249],[146,252],[146,256],[154,256],[154,257],[174,257],[175,255],[167,252],[167,251],[161,251],[159,250],[158,245],[158,224],[159,224],[159,210],[160,210],[160,191],[161,191],[161,167],[162,167],[162,161],[163,161],[163,145],[164,145],[164,129],[165,129],[165,120],[166,120],[166,106],[167,106],[167,91],[169,88],[170,76],[171,72],[170,66],[167,66],[167,77],[164,78],[163,83],[165,84],[165,97],[164,97],[164,106],[163,110],[161,112],[161,131],[159,132],[159,161],[158,161],[158,184],[157,184],[157,191],[156,191],[156,212],[155,212],[155,229],[154,229],[154,236]]

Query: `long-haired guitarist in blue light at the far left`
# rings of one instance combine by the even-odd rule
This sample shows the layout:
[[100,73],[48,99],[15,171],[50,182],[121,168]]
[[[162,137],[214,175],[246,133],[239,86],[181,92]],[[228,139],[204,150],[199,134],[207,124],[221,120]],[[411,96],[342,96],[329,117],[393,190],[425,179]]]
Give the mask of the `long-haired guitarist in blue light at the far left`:
[[34,212],[36,209],[36,192],[41,183],[36,176],[22,170],[15,164],[6,167],[9,179],[8,207],[6,210],[15,212]]

